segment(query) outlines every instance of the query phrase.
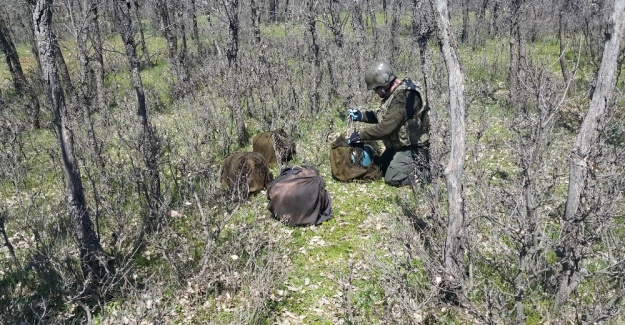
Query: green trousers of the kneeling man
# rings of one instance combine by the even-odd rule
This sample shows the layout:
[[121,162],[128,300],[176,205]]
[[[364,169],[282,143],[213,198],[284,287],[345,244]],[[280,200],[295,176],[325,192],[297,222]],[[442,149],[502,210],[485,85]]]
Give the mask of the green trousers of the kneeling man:
[[382,153],[380,164],[384,182],[392,186],[411,183],[429,183],[430,152],[427,145],[388,148]]

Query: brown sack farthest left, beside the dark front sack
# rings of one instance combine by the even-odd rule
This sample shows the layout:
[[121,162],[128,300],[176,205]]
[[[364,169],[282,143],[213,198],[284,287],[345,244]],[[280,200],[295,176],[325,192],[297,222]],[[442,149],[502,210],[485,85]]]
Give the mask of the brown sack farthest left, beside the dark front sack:
[[221,186],[232,199],[245,200],[273,180],[263,156],[257,152],[237,152],[224,159]]

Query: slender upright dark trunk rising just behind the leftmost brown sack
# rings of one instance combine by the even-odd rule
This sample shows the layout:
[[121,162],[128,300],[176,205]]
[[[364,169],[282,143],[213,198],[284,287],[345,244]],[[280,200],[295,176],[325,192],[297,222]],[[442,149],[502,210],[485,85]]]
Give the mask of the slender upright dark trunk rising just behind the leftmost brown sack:
[[243,113],[241,112],[241,104],[238,97],[240,92],[237,89],[239,85],[237,81],[239,70],[239,0],[229,0],[227,4],[224,3],[224,10],[228,16],[228,28],[230,31],[230,44],[226,53],[228,58],[228,78],[234,81],[232,87],[229,88],[231,91],[230,109],[237,128],[237,143],[239,146],[244,147],[249,141],[249,134],[245,126]]

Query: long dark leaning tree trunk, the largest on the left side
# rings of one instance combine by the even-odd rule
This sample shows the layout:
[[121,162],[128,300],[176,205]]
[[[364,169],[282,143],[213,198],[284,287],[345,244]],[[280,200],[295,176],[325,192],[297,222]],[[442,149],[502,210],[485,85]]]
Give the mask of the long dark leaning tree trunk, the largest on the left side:
[[54,49],[54,33],[52,23],[52,0],[37,0],[33,13],[33,23],[39,55],[42,61],[43,77],[46,83],[47,95],[54,111],[59,145],[61,149],[62,168],[66,180],[66,199],[69,216],[72,223],[72,232],[81,261],[81,268],[85,278],[90,280],[101,279],[105,273],[104,252],[100,241],[93,229],[89,217],[85,195],[80,175],[80,168],[74,155],[73,132],[67,125],[68,111],[65,105],[63,88],[59,79]]

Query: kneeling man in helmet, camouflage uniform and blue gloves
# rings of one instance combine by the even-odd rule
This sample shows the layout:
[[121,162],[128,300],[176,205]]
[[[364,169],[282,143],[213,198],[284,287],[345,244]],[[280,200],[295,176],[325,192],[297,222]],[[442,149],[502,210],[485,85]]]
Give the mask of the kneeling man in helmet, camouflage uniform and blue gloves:
[[397,78],[384,61],[371,64],[365,82],[367,90],[375,91],[382,103],[377,111],[349,109],[353,121],[374,125],[352,133],[348,143],[355,146],[362,141],[382,140],[386,148],[380,163],[389,185],[429,182],[429,118],[419,88],[408,78]]

